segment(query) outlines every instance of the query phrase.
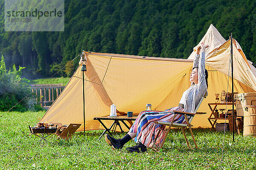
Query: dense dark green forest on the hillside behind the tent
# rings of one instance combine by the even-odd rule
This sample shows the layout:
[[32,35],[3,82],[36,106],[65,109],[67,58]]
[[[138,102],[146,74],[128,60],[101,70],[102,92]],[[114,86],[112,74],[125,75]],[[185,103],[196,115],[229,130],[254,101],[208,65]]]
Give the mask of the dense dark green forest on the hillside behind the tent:
[[[29,79],[49,77],[82,50],[187,58],[212,23],[232,32],[256,63],[256,1],[65,0],[65,31],[5,32],[0,0],[0,54]],[[76,59],[58,76],[70,77]]]

